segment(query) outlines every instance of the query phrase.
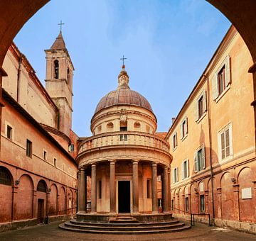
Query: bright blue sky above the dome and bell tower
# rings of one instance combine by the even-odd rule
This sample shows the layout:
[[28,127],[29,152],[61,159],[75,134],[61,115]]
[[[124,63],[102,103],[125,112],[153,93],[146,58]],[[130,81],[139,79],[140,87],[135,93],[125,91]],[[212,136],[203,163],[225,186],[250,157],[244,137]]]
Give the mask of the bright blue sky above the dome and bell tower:
[[116,89],[122,55],[129,86],[148,99],[167,131],[230,22],[205,0],[54,0],[23,26],[14,42],[44,84],[48,49],[59,33],[72,58],[73,130],[90,133],[102,96]]

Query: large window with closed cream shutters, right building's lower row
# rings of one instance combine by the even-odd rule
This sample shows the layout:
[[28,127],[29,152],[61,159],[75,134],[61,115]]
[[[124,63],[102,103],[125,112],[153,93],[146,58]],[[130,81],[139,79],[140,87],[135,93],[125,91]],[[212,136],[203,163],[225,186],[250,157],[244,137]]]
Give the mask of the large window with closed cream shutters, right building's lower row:
[[231,123],[218,133],[218,152],[220,160],[233,155]]

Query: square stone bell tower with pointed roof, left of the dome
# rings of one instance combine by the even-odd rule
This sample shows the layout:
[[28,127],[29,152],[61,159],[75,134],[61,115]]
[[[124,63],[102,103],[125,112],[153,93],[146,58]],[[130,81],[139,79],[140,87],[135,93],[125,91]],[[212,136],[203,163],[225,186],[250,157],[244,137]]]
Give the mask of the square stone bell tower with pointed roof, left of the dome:
[[73,112],[73,63],[65,47],[62,32],[46,52],[46,91],[58,106],[56,126],[70,135]]

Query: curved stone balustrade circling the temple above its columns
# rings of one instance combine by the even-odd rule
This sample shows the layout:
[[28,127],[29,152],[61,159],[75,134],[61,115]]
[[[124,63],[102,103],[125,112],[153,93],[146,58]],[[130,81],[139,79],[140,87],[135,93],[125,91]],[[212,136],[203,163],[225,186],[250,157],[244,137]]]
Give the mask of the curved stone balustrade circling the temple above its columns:
[[169,152],[169,143],[158,135],[133,131],[119,131],[114,133],[102,133],[87,138],[80,143],[78,154],[98,147],[111,147],[113,145],[137,145]]

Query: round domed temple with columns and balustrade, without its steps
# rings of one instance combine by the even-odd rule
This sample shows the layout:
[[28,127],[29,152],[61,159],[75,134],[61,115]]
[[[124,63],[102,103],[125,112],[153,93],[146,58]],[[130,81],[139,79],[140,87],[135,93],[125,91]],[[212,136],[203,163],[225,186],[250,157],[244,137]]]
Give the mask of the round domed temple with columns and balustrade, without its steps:
[[[156,135],[156,116],[144,96],[129,88],[122,66],[118,86],[97,104],[92,137],[80,143],[78,219],[122,213],[159,215],[157,176],[162,174],[162,206],[169,213],[169,143]],[[86,176],[91,177],[91,211],[86,213]],[[161,213],[161,215],[163,215]]]

